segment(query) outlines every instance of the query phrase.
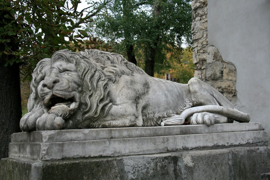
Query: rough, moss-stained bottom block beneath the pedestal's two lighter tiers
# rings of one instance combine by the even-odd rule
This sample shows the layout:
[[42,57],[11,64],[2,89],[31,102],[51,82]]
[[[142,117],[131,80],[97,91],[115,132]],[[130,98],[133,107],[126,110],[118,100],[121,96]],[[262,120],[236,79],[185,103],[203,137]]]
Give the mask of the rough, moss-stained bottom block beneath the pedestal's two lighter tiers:
[[260,179],[269,172],[270,149],[231,147],[106,158],[39,161],[1,159],[8,179]]

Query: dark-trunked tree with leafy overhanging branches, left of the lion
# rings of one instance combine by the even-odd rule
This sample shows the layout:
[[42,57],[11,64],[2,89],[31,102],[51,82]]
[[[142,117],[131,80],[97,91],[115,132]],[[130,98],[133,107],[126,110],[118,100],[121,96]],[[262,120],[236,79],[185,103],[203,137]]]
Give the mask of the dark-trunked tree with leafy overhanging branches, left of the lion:
[[0,1],[0,159],[8,156],[11,134],[20,131],[19,70],[31,77],[39,60],[60,49],[106,49],[83,26],[108,2],[91,2],[78,10],[79,0]]

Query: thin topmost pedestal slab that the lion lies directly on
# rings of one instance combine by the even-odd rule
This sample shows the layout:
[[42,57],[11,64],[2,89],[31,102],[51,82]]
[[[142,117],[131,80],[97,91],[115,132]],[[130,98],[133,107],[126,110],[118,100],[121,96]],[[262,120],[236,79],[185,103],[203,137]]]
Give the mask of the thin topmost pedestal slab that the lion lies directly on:
[[264,130],[263,126],[258,122],[214,124],[211,126],[181,125],[156,127],[72,129],[14,133],[11,136],[11,142],[66,142],[262,130]]

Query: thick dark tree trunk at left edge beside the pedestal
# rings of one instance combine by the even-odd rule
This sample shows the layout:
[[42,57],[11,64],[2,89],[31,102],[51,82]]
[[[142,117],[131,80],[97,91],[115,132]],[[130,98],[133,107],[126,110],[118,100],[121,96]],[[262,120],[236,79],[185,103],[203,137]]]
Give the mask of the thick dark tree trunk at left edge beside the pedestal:
[[[8,11],[1,11],[0,19],[10,22],[12,19],[4,17],[7,14],[10,15]],[[0,23],[0,27],[3,26],[3,23]],[[6,46],[11,51],[16,51],[17,45],[13,41],[15,36],[1,38],[11,39],[10,42],[6,43]],[[5,46],[1,45],[0,51],[4,49]],[[6,54],[0,56],[0,159],[8,157],[11,134],[21,132],[19,127],[19,121],[22,117],[19,65],[14,63],[11,66],[4,66],[11,58],[14,56]]]

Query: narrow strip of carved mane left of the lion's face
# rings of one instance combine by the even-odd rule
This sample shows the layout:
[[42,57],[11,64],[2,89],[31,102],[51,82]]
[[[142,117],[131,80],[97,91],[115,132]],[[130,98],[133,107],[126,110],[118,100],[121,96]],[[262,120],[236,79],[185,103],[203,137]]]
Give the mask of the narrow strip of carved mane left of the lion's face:
[[27,109],[28,112],[31,111],[36,111],[37,109],[41,109],[42,108],[42,101],[40,100],[39,96],[38,96],[38,84],[40,83],[40,75],[42,73],[42,69],[49,65],[49,63],[51,62],[50,58],[44,58],[41,61],[38,62],[37,66],[35,67],[33,74],[32,74],[32,81],[31,81],[31,94],[30,97],[28,99],[28,103],[27,103]]

